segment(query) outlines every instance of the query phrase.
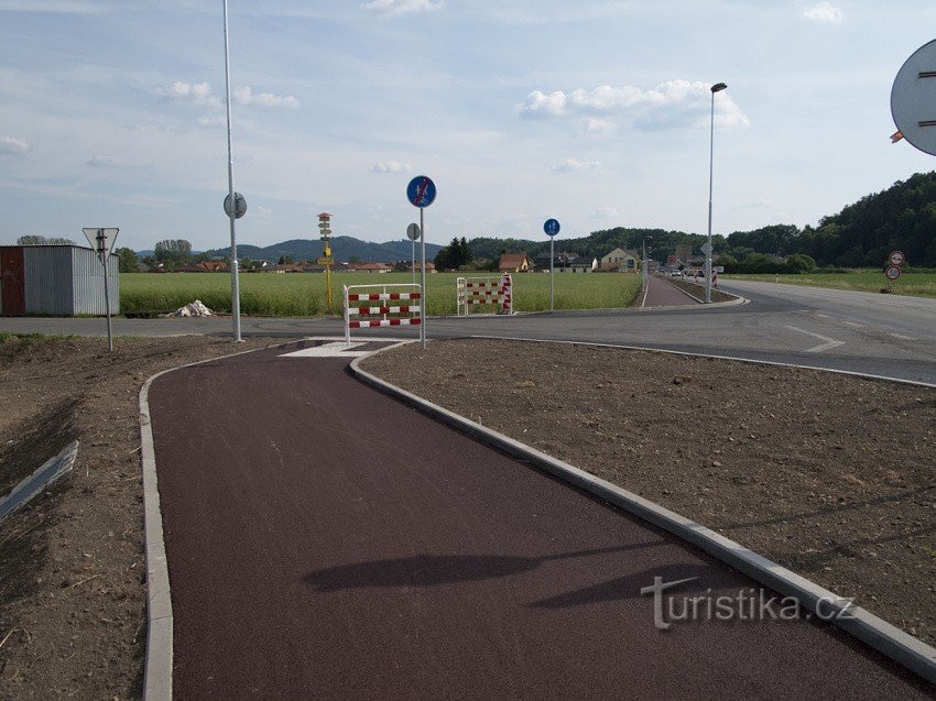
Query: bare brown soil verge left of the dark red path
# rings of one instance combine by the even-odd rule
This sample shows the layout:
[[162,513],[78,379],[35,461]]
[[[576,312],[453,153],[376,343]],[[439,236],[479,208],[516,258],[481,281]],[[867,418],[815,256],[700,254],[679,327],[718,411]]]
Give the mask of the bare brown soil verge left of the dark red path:
[[273,339],[0,335],[0,493],[67,442],[73,471],[0,524],[0,699],[142,691],[139,394],[162,370]]

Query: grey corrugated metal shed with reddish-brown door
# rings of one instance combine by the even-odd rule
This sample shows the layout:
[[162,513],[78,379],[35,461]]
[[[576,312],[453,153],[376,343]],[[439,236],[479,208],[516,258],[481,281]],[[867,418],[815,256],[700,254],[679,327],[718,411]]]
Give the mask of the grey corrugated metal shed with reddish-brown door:
[[[0,308],[6,315],[50,314],[56,316],[104,315],[104,266],[97,253],[78,245],[3,247],[4,260],[22,261],[22,270],[0,271],[4,275],[3,299],[24,300],[13,308]],[[13,267],[4,265],[4,267]],[[118,260],[108,260],[110,309],[120,311]]]

